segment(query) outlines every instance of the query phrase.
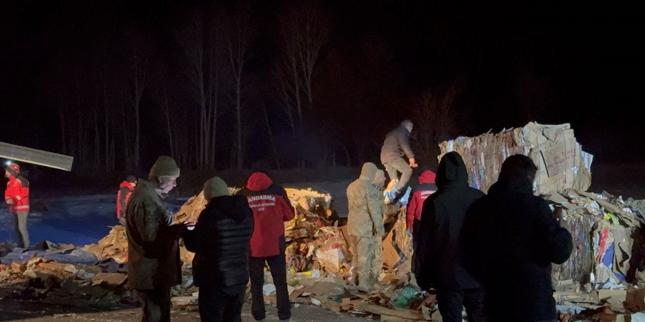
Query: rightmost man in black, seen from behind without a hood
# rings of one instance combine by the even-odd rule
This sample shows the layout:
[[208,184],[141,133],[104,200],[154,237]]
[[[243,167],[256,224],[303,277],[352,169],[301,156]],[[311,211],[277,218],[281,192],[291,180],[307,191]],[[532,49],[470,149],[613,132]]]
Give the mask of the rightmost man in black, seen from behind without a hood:
[[507,158],[497,183],[473,204],[464,221],[464,266],[484,285],[484,312],[490,322],[558,319],[551,263],[569,258],[571,234],[547,202],[533,195],[536,171],[528,156]]

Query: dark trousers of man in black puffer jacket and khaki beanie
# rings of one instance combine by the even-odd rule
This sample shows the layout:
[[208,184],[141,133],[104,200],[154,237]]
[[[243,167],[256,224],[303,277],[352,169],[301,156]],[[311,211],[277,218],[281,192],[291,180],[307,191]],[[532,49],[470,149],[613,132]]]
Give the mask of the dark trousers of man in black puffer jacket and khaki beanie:
[[199,287],[199,317],[202,322],[240,322],[246,285]]

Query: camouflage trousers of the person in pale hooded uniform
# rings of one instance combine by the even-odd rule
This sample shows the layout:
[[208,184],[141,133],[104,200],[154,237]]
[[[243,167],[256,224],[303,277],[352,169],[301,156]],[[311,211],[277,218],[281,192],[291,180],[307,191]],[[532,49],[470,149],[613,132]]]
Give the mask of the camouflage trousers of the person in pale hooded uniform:
[[379,281],[383,267],[383,240],[381,236],[357,236],[356,251],[359,286],[369,289]]

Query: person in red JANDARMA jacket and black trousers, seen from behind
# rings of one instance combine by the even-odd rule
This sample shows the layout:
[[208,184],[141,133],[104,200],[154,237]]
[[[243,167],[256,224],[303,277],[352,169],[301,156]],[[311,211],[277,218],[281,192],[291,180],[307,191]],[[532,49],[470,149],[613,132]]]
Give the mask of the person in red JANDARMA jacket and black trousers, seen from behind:
[[291,303],[286,285],[286,261],[284,260],[284,222],[293,219],[293,210],[284,198],[284,189],[274,185],[268,175],[253,173],[246,187],[239,194],[246,197],[253,211],[255,225],[251,236],[251,313],[256,321],[264,321],[264,263],[268,263],[277,295],[278,317],[281,321],[291,318]]

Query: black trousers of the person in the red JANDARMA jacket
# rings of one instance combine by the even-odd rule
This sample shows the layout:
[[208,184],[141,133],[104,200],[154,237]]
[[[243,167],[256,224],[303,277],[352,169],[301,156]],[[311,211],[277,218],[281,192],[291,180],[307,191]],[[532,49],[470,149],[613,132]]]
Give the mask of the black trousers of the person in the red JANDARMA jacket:
[[289,290],[286,287],[286,261],[284,261],[284,237],[281,238],[282,250],[280,254],[269,257],[252,257],[248,263],[248,272],[251,278],[251,314],[256,321],[266,317],[264,310],[264,263],[268,263],[275,285],[277,296],[278,317],[281,320],[291,318],[291,303],[289,301]]

